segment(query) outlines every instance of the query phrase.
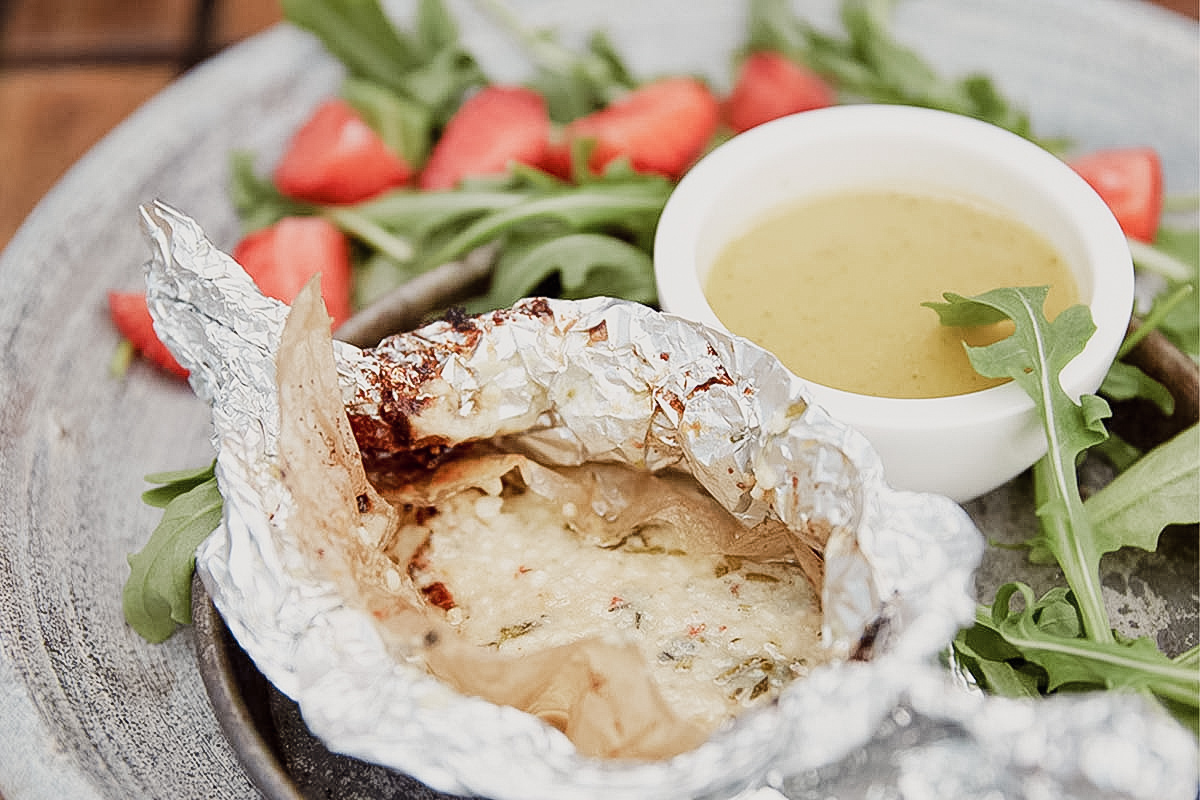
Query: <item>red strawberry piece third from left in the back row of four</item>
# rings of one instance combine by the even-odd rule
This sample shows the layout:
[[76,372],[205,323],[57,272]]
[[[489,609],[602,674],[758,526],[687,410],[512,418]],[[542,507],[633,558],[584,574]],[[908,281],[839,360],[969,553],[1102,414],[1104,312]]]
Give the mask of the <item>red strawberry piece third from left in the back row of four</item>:
[[700,157],[720,120],[720,104],[695,78],[665,78],[635,89],[607,108],[568,122],[547,167],[570,173],[571,142],[595,140],[588,167],[600,172],[620,156],[634,169],[678,179]]

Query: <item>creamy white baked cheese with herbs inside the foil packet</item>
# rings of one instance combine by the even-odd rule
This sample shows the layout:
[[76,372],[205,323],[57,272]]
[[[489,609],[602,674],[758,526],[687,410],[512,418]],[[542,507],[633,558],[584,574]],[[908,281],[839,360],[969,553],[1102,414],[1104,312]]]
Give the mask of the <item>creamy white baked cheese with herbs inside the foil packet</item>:
[[571,516],[533,492],[463,492],[424,523],[427,551],[410,573],[444,587],[446,620],[479,646],[634,643],[662,698],[706,728],[778,697],[824,658],[820,600],[798,567],[674,552],[652,531],[596,547]]

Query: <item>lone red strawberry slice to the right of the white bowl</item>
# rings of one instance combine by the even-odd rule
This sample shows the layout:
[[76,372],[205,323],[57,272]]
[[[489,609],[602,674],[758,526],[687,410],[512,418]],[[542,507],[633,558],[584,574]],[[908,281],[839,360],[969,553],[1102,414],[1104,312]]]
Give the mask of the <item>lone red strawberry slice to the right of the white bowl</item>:
[[1067,162],[1112,210],[1130,239],[1154,240],[1163,213],[1163,164],[1152,148],[1117,148]]

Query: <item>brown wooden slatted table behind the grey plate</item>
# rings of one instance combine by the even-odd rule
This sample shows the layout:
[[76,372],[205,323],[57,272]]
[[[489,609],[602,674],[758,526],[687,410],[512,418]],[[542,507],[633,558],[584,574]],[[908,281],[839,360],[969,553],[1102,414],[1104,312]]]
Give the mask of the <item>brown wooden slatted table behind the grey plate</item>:
[[[1200,0],[1152,1],[1200,18]],[[0,2],[0,248],[121,119],[280,17],[278,0]]]

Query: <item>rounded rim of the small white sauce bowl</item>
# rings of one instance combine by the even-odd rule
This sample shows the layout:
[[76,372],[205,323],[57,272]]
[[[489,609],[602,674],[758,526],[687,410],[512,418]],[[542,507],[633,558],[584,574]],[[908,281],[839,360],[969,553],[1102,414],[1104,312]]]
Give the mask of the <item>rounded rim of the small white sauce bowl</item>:
[[[1096,332],[1062,371],[1061,380],[1073,399],[1094,391],[1093,384],[1098,385],[1111,363],[1133,311],[1133,265],[1124,234],[1104,200],[1061,158],[1015,133],[949,112],[871,103],[833,106],[766,122],[712,150],[679,181],[659,219],[654,272],[662,309],[727,330],[696,278],[696,234],[726,187],[744,175],[749,166],[778,158],[800,145],[828,144],[847,136],[864,140],[911,137],[943,145],[962,157],[1016,170],[1042,187],[1044,196],[1080,231],[1086,231],[1079,239],[1085,248],[1081,263],[1091,273],[1092,293],[1086,301],[1080,299],[1080,303],[1088,307]],[[1097,265],[1104,269],[1097,270]],[[835,409],[846,421],[870,419],[890,429],[926,427],[932,420],[937,427],[972,426],[1033,410],[1033,401],[1012,381],[948,397],[895,398],[799,379],[812,389],[818,402]],[[887,415],[886,421],[881,414]]]

